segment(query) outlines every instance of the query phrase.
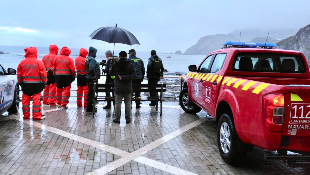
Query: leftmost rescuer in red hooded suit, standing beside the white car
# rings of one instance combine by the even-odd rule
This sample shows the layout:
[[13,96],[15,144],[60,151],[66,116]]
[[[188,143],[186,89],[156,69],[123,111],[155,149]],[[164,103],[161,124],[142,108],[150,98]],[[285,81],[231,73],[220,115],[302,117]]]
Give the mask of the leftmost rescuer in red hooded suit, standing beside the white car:
[[40,96],[46,87],[47,77],[44,63],[37,59],[37,48],[27,47],[25,58],[17,67],[17,82],[22,87],[23,119],[30,118],[30,99],[32,97],[32,119],[45,119],[42,115]]

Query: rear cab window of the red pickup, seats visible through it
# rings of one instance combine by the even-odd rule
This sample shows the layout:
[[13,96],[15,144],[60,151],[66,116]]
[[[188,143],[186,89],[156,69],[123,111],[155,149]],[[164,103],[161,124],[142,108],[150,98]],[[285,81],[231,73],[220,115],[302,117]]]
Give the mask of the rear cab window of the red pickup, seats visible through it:
[[238,53],[232,64],[233,71],[306,73],[301,55],[280,53]]

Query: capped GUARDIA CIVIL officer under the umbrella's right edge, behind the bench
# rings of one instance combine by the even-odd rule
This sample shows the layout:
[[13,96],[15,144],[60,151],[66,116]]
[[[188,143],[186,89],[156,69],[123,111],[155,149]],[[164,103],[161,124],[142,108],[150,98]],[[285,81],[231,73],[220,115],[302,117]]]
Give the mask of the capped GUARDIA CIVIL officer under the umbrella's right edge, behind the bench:
[[[137,76],[134,79],[132,79],[132,84],[141,84],[141,82],[144,79],[144,74],[145,74],[144,63],[143,63],[141,58],[136,57],[136,50],[135,49],[130,49],[128,54],[129,54],[129,58],[127,60],[131,61],[133,63],[133,65],[135,65],[136,72],[137,72]],[[133,95],[133,93],[132,93],[132,95]],[[136,91],[135,97],[141,98],[141,92]],[[141,108],[140,100],[136,101],[136,108],[137,109]]]

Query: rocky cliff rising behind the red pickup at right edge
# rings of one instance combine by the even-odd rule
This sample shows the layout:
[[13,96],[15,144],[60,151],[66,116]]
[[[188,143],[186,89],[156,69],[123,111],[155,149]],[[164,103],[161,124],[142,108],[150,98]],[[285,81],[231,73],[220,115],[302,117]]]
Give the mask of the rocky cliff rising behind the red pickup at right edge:
[[310,65],[310,24],[301,28],[294,36],[276,43],[278,49],[301,51]]

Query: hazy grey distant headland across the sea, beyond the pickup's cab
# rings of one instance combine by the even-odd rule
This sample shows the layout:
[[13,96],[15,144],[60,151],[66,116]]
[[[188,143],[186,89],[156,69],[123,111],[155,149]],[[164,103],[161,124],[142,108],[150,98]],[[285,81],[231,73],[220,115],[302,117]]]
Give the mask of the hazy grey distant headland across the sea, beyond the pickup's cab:
[[189,47],[184,54],[207,55],[210,52],[221,49],[222,44],[226,41],[237,41],[235,37],[230,34],[215,34],[201,37],[198,42]]

